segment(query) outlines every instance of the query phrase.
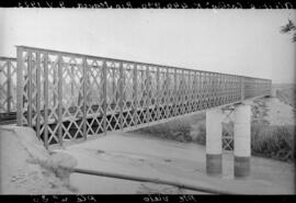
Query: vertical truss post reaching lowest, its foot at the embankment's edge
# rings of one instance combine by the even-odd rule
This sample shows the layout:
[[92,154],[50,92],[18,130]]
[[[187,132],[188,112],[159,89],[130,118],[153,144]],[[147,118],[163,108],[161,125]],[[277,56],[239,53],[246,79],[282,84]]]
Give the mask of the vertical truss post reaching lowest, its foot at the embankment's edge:
[[44,54],[44,145],[48,149],[48,54]]

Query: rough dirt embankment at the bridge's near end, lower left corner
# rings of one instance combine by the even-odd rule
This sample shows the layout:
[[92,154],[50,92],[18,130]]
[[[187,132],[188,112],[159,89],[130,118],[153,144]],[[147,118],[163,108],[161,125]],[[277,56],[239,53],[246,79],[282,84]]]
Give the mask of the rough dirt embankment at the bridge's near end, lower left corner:
[[73,193],[67,182],[38,163],[54,163],[58,157],[49,155],[33,129],[1,126],[0,194]]

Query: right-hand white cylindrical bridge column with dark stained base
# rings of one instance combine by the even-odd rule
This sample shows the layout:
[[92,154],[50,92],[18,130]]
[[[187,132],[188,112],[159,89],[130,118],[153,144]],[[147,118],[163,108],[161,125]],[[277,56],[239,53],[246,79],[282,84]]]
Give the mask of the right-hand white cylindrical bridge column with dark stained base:
[[238,105],[235,111],[235,177],[247,178],[251,157],[251,106]]

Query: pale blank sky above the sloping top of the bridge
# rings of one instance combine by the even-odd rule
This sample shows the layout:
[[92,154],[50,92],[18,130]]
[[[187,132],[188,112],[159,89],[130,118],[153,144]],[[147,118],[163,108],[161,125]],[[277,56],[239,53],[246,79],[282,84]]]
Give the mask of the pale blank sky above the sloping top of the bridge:
[[0,56],[15,45],[296,82],[296,10],[0,8]]

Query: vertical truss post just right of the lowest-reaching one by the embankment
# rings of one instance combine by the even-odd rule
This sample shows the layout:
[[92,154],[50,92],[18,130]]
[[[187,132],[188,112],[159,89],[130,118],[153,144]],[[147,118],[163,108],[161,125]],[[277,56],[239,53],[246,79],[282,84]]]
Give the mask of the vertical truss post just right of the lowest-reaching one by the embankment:
[[62,146],[62,57],[58,54],[58,140]]

